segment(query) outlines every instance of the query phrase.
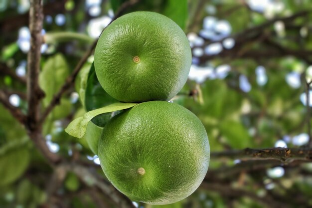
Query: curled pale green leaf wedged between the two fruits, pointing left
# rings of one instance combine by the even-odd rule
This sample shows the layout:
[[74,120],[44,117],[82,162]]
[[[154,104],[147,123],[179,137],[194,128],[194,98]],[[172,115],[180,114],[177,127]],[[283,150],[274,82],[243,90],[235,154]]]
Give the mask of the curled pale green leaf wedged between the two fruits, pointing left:
[[137,104],[138,103],[113,103],[103,108],[89,111],[84,116],[73,120],[65,129],[65,132],[67,132],[69,135],[73,137],[82,138],[86,133],[86,128],[87,128],[89,121],[93,119],[95,116],[103,114],[103,113],[109,113],[113,111],[131,108]]

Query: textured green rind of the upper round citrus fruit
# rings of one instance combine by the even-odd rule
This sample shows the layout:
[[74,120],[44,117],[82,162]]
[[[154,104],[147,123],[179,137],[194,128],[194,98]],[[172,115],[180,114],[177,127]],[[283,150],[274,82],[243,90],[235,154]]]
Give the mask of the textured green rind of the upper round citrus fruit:
[[[140,63],[133,61],[135,56]],[[169,100],[187,80],[191,49],[174,21],[155,12],[137,11],[105,28],[94,64],[100,84],[117,100]]]

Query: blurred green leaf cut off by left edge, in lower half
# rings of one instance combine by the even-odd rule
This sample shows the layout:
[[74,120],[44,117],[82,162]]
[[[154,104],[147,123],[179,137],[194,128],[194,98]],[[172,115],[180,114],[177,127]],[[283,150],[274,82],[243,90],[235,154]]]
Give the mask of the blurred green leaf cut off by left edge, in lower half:
[[0,186],[18,179],[29,164],[29,150],[25,148],[28,138],[15,140],[0,148]]

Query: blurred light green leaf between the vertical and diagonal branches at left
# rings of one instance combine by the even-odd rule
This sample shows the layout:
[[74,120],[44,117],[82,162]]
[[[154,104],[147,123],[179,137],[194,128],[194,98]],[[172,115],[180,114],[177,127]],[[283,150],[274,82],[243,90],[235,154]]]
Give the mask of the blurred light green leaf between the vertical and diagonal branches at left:
[[39,85],[45,93],[43,99],[44,106],[51,102],[54,94],[64,84],[68,75],[69,69],[66,59],[60,53],[50,57],[45,62],[39,74]]

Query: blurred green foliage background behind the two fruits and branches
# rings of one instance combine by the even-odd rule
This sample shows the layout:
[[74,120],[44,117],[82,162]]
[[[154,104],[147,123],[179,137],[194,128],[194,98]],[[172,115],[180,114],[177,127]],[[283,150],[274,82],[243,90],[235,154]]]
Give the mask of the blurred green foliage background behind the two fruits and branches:
[[[125,1],[99,1],[100,3],[95,3],[95,5],[88,4],[88,0],[67,0],[66,2],[44,0],[46,15],[43,27],[45,32],[51,35],[53,32],[70,31],[73,34],[83,33],[84,36],[94,38],[93,32],[104,28],[103,22],[106,20],[103,17],[111,19],[111,13],[116,13]],[[25,45],[21,43],[27,43],[25,39],[29,37],[20,34],[21,28],[27,25],[29,8],[27,2],[0,1],[0,63],[7,66],[14,74],[21,73],[21,77],[27,71],[24,66],[26,53],[23,47]],[[214,76],[207,76],[203,81],[189,79],[173,102],[190,109],[199,117],[206,128],[213,152],[244,148],[273,148],[278,144],[277,141],[284,141],[288,147],[300,147],[306,143],[298,143],[299,135],[306,135],[307,129],[311,128],[307,126],[311,117],[307,116],[307,107],[303,102],[306,96],[306,73],[312,65],[311,0],[270,1],[271,4],[272,2],[276,4],[273,3],[272,7],[273,4],[268,3],[262,11],[252,8],[250,2],[141,0],[127,7],[123,12],[136,10],[159,12],[173,19],[185,31],[189,39],[190,36],[195,35],[198,42],[194,42],[192,50],[193,66],[198,67],[199,75],[197,76],[199,78],[204,76],[203,72],[208,68]],[[260,1],[257,2],[262,5]],[[94,7],[100,9],[100,13],[92,13]],[[281,19],[305,10],[309,12],[299,15],[294,20],[272,21],[272,19]],[[65,21],[63,24],[59,23],[62,20],[61,17]],[[216,22],[228,22],[231,28],[230,34],[217,40],[203,37],[202,30],[210,31],[204,28],[205,17],[214,17]],[[90,23],[94,20],[98,20],[95,26]],[[272,21],[271,24],[262,27],[270,21]],[[261,28],[259,29],[258,26]],[[278,30],[278,28],[282,29]],[[218,54],[205,53],[206,46],[212,43],[223,43],[227,37],[236,41],[232,48],[225,48],[223,45],[222,52]],[[67,38],[66,41],[59,38],[61,36],[55,38],[52,44],[46,45],[42,53],[39,84],[45,93],[41,103],[43,108],[59,91],[89,46],[90,38],[87,42],[79,38],[72,38],[73,41],[68,41],[71,39],[67,36],[64,36]],[[196,48],[202,49],[201,56],[194,55]],[[86,163],[94,163],[96,160],[92,153],[92,151],[96,152],[94,144],[90,143],[94,140],[88,140],[86,137],[92,138],[100,133],[87,130],[86,136],[78,140],[66,134],[64,129],[70,121],[82,116],[86,111],[114,102],[98,83],[94,69],[92,69],[92,62],[91,56],[79,72],[74,89],[63,95],[60,104],[49,114],[43,124],[44,136],[50,142],[50,148],[53,151],[57,151],[66,158],[76,157],[78,153]],[[222,76],[218,71],[221,65],[230,66],[230,70]],[[259,66],[265,68],[267,77],[267,81],[262,84],[259,84],[259,74],[256,71]],[[246,90],[248,87],[242,87],[242,77],[247,79],[249,90]],[[17,95],[26,92],[23,83],[1,71],[0,88]],[[26,112],[27,105],[22,96],[19,96],[17,107],[22,112]],[[103,116],[108,120],[112,115],[99,115],[92,121],[99,126],[104,126],[105,122],[97,121],[97,118],[102,120]],[[87,129],[94,128],[100,129],[94,124],[88,126]],[[237,166],[232,160],[211,160],[209,171],[220,173],[217,171],[222,172],[222,168],[226,167]],[[267,203],[261,202],[261,199],[270,196],[273,201],[286,203],[290,207],[311,207],[311,163],[283,168],[285,174],[274,180],[266,174],[266,168],[250,171],[249,174],[244,172],[240,175],[230,174],[227,178],[212,178],[211,181],[209,178],[206,179],[212,183],[220,182],[225,188],[243,189],[258,200],[253,200],[250,196],[224,195],[222,190],[206,190],[200,187],[189,198],[173,205],[152,206],[139,203],[139,206],[145,208],[261,208],[270,207]],[[0,105],[0,207],[35,208],[46,203],[45,187],[52,173],[47,162],[29,141],[25,129]],[[268,184],[274,184],[274,188],[268,188]],[[81,183],[76,175],[70,173],[65,177],[58,194],[65,199],[63,203],[68,207],[99,207],[97,200],[89,191],[90,187]],[[100,199],[107,205],[116,207],[108,198],[109,196],[100,195]]]

